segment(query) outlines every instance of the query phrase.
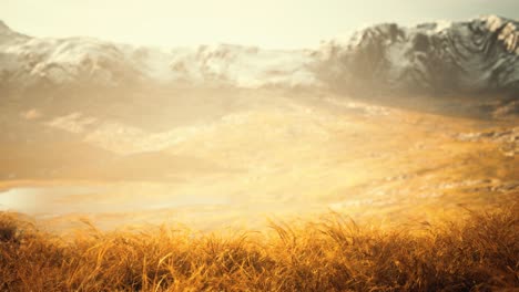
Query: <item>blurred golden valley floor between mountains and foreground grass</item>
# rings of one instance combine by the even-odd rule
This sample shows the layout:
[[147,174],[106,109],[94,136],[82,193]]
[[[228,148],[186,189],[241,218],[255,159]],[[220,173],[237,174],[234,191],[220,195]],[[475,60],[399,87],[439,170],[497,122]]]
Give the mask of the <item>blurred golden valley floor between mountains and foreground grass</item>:
[[328,211],[434,222],[518,201],[516,119],[426,112],[418,97],[408,107],[276,91],[163,100],[104,114],[19,107],[18,124],[4,122],[14,137],[2,144],[0,206],[54,230],[83,219],[240,230]]

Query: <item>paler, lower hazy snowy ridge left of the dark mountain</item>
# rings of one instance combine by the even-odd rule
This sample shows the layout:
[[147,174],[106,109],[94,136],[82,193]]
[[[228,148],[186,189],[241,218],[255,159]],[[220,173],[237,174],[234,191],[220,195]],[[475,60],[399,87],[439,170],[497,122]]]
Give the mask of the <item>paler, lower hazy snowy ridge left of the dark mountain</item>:
[[182,85],[264,85],[317,83],[307,69],[308,51],[260,50],[240,45],[159,48],[115,44],[92,38],[30,38],[0,23],[0,82],[4,86],[139,82]]

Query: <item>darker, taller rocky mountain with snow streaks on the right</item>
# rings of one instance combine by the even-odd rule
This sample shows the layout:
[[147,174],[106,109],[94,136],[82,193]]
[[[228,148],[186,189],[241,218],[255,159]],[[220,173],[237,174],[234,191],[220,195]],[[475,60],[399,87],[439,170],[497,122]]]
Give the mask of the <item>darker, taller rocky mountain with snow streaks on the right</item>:
[[320,74],[346,90],[519,90],[519,22],[496,15],[414,28],[379,24],[320,50]]

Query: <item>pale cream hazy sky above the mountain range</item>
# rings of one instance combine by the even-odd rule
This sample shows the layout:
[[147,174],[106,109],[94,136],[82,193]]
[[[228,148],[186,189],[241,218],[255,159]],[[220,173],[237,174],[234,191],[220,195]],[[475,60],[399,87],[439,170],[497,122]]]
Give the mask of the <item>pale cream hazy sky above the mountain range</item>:
[[30,35],[163,46],[311,48],[372,23],[489,13],[519,20],[519,0],[0,0],[0,19]]

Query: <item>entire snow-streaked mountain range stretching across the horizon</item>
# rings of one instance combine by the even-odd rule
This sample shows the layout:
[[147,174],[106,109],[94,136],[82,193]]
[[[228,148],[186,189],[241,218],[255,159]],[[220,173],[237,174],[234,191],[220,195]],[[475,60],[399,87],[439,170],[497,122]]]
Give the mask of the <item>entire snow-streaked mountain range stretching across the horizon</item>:
[[91,38],[31,38],[0,22],[0,88],[332,87],[346,92],[519,90],[519,22],[496,15],[404,28],[379,24],[317,50],[201,45],[163,50]]

